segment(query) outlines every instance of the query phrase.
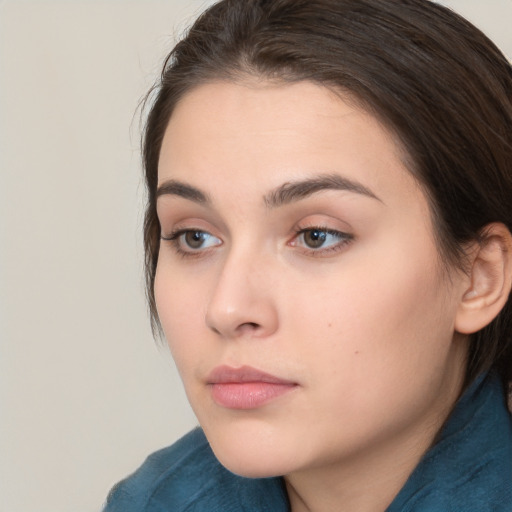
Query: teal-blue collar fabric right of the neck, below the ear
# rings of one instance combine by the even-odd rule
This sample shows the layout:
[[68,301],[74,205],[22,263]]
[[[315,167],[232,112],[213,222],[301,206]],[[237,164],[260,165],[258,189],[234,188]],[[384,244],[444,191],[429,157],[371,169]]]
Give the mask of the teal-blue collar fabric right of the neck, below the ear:
[[496,375],[466,390],[387,509],[409,511],[512,511],[512,419]]

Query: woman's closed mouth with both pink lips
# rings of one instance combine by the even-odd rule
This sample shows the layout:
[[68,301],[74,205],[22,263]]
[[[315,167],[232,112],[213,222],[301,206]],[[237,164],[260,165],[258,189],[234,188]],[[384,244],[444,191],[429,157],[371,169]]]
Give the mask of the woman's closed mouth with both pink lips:
[[296,389],[298,384],[250,366],[218,366],[207,378],[213,401],[227,409],[257,409]]

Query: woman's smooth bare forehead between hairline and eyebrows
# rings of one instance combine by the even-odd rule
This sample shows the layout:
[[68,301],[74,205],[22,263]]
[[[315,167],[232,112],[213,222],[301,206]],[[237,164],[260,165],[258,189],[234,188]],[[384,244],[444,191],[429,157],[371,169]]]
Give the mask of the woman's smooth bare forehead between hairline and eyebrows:
[[261,194],[283,182],[339,173],[383,196],[423,196],[394,137],[355,102],[309,82],[214,82],[176,105],[164,136],[168,179]]

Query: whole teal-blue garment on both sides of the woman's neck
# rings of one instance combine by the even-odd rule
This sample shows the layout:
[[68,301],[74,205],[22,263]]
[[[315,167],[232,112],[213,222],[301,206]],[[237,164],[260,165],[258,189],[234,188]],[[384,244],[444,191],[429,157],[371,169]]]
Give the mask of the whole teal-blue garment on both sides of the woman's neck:
[[[160,450],[109,494],[104,512],[288,512],[281,478],[233,475],[200,429]],[[512,512],[512,418],[500,382],[481,377],[387,512]]]

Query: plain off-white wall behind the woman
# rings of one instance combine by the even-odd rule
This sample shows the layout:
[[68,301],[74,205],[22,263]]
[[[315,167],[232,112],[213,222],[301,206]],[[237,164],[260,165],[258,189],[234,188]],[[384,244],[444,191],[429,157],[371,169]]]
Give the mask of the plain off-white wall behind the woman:
[[[98,511],[195,424],[146,313],[135,111],[207,3],[0,0],[0,512]],[[512,0],[445,3],[512,55]]]

